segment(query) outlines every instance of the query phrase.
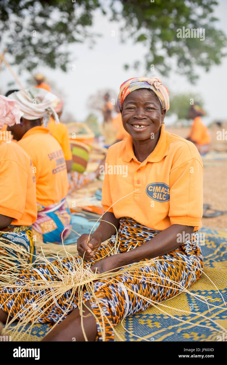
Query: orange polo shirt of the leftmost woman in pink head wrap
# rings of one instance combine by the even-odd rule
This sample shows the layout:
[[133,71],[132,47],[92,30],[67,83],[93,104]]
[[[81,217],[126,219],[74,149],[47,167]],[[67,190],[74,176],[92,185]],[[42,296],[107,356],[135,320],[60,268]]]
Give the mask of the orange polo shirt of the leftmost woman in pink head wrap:
[[0,214],[15,226],[31,226],[37,218],[31,158],[14,142],[0,141]]

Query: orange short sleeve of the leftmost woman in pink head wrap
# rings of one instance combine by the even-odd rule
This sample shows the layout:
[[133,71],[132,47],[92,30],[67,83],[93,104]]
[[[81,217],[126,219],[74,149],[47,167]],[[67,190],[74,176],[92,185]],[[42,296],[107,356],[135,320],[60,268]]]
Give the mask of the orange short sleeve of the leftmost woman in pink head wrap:
[[0,214],[20,219],[24,213],[27,173],[15,161],[0,162]]

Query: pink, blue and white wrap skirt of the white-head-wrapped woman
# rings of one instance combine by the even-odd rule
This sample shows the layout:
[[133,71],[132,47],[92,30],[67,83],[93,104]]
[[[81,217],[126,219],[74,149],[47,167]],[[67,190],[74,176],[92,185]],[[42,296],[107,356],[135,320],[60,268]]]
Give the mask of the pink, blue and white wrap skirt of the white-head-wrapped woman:
[[[32,224],[32,233],[36,236],[36,241],[47,243],[62,243],[61,235],[64,228],[71,228],[71,214],[66,198],[59,203],[44,207],[37,203],[38,216]],[[67,229],[63,232],[63,240],[70,234]]]

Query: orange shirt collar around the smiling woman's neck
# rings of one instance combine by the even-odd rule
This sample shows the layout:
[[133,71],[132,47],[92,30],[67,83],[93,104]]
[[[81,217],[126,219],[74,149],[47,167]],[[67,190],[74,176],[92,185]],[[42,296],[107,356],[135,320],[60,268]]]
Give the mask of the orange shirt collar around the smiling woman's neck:
[[[144,162],[158,162],[163,159],[168,154],[169,151],[169,143],[170,143],[170,134],[169,132],[165,131],[164,124],[161,126],[161,133],[160,137],[158,139],[158,143],[155,146],[152,153],[149,154],[149,156],[146,158]],[[136,157],[134,155],[133,151],[133,141],[132,137],[129,136],[126,140],[125,144],[125,153],[124,153],[124,161],[129,162],[131,160],[136,160]]]

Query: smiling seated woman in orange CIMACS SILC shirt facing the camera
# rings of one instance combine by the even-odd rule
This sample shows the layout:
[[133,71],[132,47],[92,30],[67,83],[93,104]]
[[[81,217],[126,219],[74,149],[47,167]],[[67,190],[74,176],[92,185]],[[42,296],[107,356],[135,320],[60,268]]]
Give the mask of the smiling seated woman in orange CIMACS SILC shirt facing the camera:
[[[81,285],[78,296],[72,287],[58,303],[44,289],[48,308],[40,308],[36,320],[64,319],[43,341],[72,341],[73,337],[85,341],[85,335],[88,341],[113,341],[114,326],[120,320],[179,294],[202,273],[203,258],[193,231],[201,227],[203,166],[193,143],[165,131],[168,90],[159,78],[132,78],[121,85],[118,105],[130,136],[108,150],[103,221],[94,233],[83,234],[77,241],[79,255],[92,263],[93,272],[114,273],[91,280],[92,292]],[[111,237],[109,246],[102,245]],[[15,289],[0,289],[4,303],[0,320],[6,320],[9,312],[19,318],[31,314],[24,297],[29,297],[28,303],[40,297],[39,281],[37,290],[34,284],[37,274],[38,279],[44,273],[48,280],[56,276],[62,280],[62,275],[73,275],[79,265],[81,259],[75,257],[62,260],[61,268],[56,260],[36,272],[24,271],[21,278],[32,278],[34,290],[27,294],[21,278],[19,295],[13,293]],[[23,310],[18,311],[21,306]]]

